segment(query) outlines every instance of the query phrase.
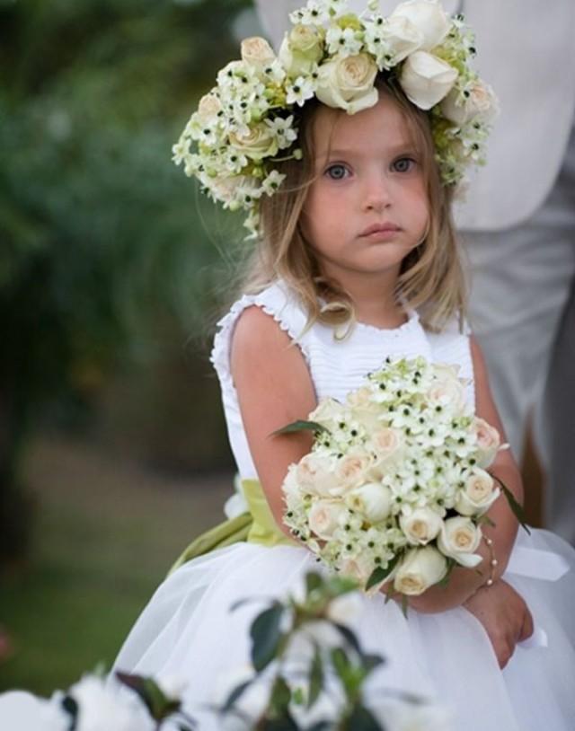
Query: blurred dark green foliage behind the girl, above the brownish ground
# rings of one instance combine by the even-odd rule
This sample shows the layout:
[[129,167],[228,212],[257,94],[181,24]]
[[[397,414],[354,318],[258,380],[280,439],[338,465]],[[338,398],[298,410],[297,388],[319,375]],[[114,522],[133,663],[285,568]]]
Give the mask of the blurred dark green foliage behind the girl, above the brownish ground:
[[0,558],[39,405],[211,304],[214,212],[170,150],[249,4],[0,0]]

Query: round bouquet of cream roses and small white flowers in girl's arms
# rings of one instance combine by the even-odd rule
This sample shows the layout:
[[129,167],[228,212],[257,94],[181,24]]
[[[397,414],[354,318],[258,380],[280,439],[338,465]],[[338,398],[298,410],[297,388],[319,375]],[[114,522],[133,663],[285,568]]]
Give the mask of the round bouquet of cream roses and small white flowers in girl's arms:
[[367,590],[393,580],[416,595],[481,563],[500,495],[487,470],[506,445],[474,416],[455,367],[387,358],[346,403],[323,400],[309,418],[281,430],[315,432],[284,480],[284,522],[325,564]]

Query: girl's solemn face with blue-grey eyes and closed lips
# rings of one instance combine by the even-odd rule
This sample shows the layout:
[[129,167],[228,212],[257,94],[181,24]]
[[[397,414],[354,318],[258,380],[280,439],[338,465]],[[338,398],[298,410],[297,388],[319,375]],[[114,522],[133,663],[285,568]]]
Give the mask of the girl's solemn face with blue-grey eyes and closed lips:
[[394,99],[348,116],[322,107],[314,119],[314,173],[301,225],[323,273],[395,274],[429,221],[421,155]]

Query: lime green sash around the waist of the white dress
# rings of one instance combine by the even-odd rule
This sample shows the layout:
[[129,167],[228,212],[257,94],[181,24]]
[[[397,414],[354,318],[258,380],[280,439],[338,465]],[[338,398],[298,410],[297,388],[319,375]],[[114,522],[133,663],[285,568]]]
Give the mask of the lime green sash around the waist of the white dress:
[[279,530],[279,526],[271,514],[268,501],[263,494],[263,489],[261,489],[260,482],[258,480],[242,480],[242,488],[249,512],[230,518],[224,523],[210,528],[206,533],[199,535],[181,553],[180,558],[173,564],[169,574],[172,574],[176,568],[180,568],[191,559],[241,541],[260,543],[262,546],[269,547],[298,545]]

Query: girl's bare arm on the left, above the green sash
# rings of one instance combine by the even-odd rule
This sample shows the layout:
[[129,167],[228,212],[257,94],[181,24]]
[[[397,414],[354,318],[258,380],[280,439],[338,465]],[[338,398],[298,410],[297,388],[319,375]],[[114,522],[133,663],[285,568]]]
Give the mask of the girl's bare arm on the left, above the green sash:
[[243,427],[261,487],[279,528],[283,524],[282,482],[288,466],[307,454],[311,432],[270,436],[317,405],[314,385],[301,350],[259,307],[248,307],[234,330],[232,375]]

